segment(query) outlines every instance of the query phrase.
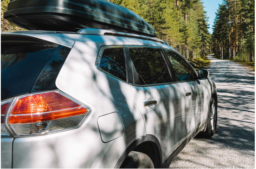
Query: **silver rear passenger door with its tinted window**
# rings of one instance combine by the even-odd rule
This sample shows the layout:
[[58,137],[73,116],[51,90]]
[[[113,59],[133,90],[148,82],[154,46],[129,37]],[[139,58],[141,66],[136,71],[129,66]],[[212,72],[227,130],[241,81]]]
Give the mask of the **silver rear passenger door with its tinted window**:
[[134,72],[131,92],[143,115],[146,134],[160,141],[164,161],[186,137],[185,95],[173,84],[161,48],[125,48]]

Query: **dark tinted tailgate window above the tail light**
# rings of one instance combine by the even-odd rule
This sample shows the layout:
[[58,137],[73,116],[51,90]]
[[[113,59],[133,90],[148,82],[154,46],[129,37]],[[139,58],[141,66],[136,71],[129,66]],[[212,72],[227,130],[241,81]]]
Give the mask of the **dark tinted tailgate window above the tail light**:
[[47,61],[58,48],[39,44],[1,45],[1,100],[31,92]]

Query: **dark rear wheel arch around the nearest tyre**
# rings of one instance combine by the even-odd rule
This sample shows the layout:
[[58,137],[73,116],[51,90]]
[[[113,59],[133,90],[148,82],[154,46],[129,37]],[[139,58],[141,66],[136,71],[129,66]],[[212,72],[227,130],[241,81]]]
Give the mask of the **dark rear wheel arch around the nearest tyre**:
[[151,158],[155,168],[162,167],[161,146],[158,139],[155,136],[145,135],[133,141],[133,143],[131,143],[130,146],[128,146],[128,148],[126,148],[124,153],[121,155],[118,162],[116,163],[115,168],[121,167],[123,161],[126,159],[126,157],[131,151],[145,153]]

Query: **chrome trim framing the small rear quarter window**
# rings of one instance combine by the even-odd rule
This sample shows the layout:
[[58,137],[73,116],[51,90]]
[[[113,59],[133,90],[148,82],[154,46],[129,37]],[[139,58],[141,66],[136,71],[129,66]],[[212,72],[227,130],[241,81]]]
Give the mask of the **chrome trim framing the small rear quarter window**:
[[[123,45],[102,46],[102,47],[100,47],[100,51],[99,51],[99,53],[98,53],[98,55],[97,55],[97,59],[96,59],[96,62],[95,62],[96,68],[97,68],[98,70],[100,70],[101,72],[103,72],[103,73],[105,73],[105,74],[107,74],[107,75],[113,77],[113,78],[116,79],[116,80],[120,80],[121,82],[125,82],[125,83],[129,84],[129,83],[127,82],[127,77],[128,77],[128,76],[127,76],[127,68],[126,68],[126,81],[124,81],[124,80],[122,80],[122,79],[120,79],[120,78],[118,78],[118,77],[116,77],[116,76],[114,76],[114,75],[111,75],[110,73],[108,73],[108,72],[106,72],[105,70],[103,70],[102,68],[100,68],[100,61],[101,61],[101,59],[102,59],[102,54],[103,54],[103,52],[104,52],[105,49],[109,49],[109,48],[123,48]],[[123,54],[125,55],[124,51],[123,51]],[[124,59],[125,59],[125,57],[124,57]],[[126,63],[126,61],[125,61],[125,63]],[[127,67],[127,66],[126,66],[126,67]]]

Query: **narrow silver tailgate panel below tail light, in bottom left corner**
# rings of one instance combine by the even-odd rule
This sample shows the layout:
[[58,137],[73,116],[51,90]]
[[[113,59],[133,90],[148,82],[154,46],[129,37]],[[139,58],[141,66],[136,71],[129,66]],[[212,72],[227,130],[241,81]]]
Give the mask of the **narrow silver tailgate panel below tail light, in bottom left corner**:
[[1,137],[1,168],[12,168],[12,143],[14,138]]

